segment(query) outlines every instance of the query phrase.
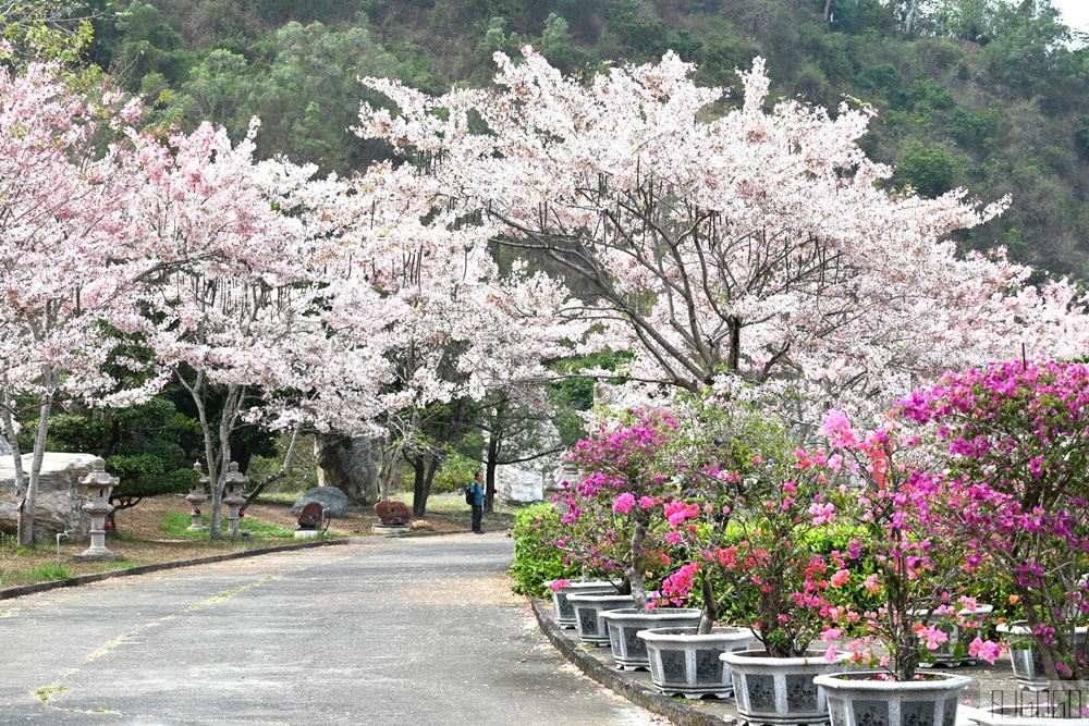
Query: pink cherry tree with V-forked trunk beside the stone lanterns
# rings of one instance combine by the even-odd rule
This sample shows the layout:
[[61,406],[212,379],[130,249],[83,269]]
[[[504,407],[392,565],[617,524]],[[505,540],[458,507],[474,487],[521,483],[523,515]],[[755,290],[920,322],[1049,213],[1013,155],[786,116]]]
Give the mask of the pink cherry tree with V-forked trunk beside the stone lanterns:
[[255,163],[252,136],[232,145],[211,124],[166,139],[132,133],[127,160],[142,181],[126,199],[138,302],[112,320],[150,349],[160,381],[174,378],[193,398],[218,481],[212,537],[231,434],[257,397],[307,389],[297,361],[322,334],[310,311],[311,229],[286,213],[313,170]]

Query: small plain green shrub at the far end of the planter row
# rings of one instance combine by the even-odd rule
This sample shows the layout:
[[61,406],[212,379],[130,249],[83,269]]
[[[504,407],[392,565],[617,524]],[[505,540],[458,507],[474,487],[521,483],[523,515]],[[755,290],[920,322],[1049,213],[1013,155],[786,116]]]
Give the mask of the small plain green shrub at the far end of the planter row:
[[544,596],[544,582],[578,578],[578,567],[565,562],[563,552],[553,544],[564,534],[560,512],[552,504],[535,504],[514,515],[510,533],[514,563],[507,574],[514,578],[515,592]]

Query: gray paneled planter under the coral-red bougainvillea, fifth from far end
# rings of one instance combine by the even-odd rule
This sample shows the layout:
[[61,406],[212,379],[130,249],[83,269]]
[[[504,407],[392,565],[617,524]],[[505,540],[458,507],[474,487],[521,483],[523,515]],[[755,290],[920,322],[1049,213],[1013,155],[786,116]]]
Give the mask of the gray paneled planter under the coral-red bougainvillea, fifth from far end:
[[823,651],[809,651],[805,657],[772,657],[766,651],[744,651],[720,655],[730,664],[734,679],[737,713],[745,723],[817,724],[828,723],[824,691],[813,678],[842,670],[840,663],[828,663]]

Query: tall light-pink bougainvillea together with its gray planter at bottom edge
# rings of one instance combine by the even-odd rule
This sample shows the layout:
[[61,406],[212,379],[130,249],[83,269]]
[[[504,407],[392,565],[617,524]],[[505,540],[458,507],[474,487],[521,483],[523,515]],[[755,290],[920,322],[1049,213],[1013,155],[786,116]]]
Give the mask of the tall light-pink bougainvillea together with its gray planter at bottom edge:
[[[830,578],[842,596],[829,610],[836,627],[823,638],[854,636],[844,647],[851,659],[874,668],[816,679],[828,694],[832,726],[952,726],[970,678],[918,667],[947,643],[943,622],[962,618],[963,606],[972,603],[964,598],[955,604],[950,594],[964,569],[957,545],[935,536],[930,451],[891,423],[860,436],[834,410],[821,433],[834,453],[803,455],[799,464],[840,480],[830,504],[862,530],[848,544],[848,565]],[[998,647],[979,638],[968,651],[990,662],[998,656]]]

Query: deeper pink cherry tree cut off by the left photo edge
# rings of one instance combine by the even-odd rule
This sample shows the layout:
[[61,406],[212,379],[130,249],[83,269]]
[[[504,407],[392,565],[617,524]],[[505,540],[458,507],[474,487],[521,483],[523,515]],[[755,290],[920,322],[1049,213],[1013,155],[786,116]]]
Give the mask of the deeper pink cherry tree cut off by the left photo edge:
[[[10,49],[0,40],[0,57]],[[133,107],[81,99],[60,66],[0,67],[0,418],[13,447],[19,541],[33,543],[38,477],[49,413],[68,396],[119,393],[103,364],[118,344],[100,323],[117,309],[125,276],[123,199],[131,179],[98,119],[123,121]],[[123,255],[121,256],[123,259]],[[125,361],[114,358],[124,367]],[[136,402],[139,391],[114,396]],[[15,416],[37,414],[24,471]]]

